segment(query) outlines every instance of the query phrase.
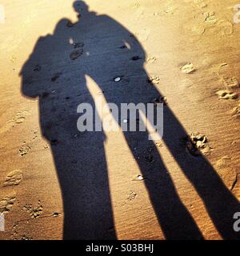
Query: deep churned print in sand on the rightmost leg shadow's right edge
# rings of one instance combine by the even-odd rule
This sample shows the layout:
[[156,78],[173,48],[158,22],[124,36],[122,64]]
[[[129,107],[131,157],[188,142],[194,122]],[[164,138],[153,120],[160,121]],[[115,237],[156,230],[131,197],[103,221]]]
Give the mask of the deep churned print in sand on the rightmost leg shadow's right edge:
[[193,154],[198,156],[202,153],[207,153],[210,150],[210,147],[207,146],[207,139],[205,135],[202,134],[190,134],[185,138],[182,138],[182,141],[185,142],[186,149]]

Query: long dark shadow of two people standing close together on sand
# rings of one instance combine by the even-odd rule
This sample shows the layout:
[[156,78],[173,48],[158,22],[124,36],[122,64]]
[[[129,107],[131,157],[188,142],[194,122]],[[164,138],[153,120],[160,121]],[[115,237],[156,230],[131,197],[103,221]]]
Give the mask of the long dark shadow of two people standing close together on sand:
[[[62,189],[64,238],[115,239],[105,134],[79,133],[76,126],[78,104],[87,102],[95,107],[85,77],[93,78],[106,101],[118,106],[130,102],[146,104],[161,95],[147,82],[143,67],[146,54],[130,31],[109,16],[90,12],[83,1],[74,2],[74,9],[78,22],[62,19],[53,35],[38,39],[22,67],[22,94],[39,100],[42,135],[50,142]],[[121,81],[114,82],[115,77]],[[163,140],[205,202],[218,231],[223,238],[237,238],[232,218],[239,211],[238,201],[206,158],[190,158],[176,145],[186,131],[167,106],[164,121]],[[146,188],[166,238],[202,239],[147,132],[124,134],[147,177]],[[136,157],[135,148],[138,154],[150,149],[150,158]]]

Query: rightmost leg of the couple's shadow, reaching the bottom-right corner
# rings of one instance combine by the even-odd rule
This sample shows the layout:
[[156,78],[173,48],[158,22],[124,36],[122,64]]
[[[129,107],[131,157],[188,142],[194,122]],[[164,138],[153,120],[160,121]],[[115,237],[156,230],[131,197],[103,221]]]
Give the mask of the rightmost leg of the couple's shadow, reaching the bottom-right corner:
[[[169,108],[164,112],[163,140],[205,203],[210,218],[224,239],[238,239],[239,234],[233,229],[234,213],[240,210],[239,202],[226,188],[210,162],[202,155],[193,158],[186,150],[179,148],[179,140],[186,136],[186,131]],[[182,154],[179,154],[182,151]]]

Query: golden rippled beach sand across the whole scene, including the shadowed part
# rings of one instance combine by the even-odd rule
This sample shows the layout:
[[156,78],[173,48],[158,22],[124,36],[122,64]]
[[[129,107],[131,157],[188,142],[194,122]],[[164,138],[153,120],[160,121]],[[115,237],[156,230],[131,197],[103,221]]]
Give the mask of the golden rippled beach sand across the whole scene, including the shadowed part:
[[[236,1],[72,4],[2,0],[0,239],[238,238]],[[78,133],[94,95],[164,98],[163,138]]]

